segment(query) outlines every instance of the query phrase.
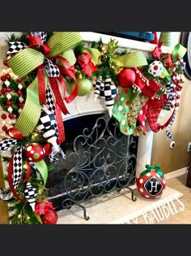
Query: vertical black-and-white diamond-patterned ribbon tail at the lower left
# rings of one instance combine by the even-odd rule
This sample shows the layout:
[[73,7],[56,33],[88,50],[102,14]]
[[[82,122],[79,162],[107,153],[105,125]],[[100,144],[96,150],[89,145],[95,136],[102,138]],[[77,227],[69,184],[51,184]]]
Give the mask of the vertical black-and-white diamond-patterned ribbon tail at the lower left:
[[17,147],[13,156],[13,186],[17,189],[22,176],[22,148]]

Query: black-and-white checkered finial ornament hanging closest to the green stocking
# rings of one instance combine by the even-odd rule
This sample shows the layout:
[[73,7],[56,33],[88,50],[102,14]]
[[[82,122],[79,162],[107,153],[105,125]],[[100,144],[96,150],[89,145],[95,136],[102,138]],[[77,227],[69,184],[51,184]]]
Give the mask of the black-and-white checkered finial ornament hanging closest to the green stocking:
[[105,99],[105,106],[108,109],[108,115],[110,117],[112,116],[112,108],[115,103],[113,98],[117,96],[117,92],[117,87],[114,85],[111,78],[106,78],[104,80],[104,89],[100,91],[100,96]]

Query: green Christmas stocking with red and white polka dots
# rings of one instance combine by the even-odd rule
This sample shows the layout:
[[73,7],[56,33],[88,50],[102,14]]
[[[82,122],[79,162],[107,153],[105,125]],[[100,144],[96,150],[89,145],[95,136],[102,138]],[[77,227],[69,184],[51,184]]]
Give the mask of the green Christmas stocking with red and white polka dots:
[[[138,96],[139,91],[133,88],[125,88],[121,91],[121,98],[112,108],[112,116],[117,119],[121,133],[129,135],[129,124],[127,122],[127,115],[129,107],[134,102],[134,99]],[[130,128],[134,130],[134,128]]]

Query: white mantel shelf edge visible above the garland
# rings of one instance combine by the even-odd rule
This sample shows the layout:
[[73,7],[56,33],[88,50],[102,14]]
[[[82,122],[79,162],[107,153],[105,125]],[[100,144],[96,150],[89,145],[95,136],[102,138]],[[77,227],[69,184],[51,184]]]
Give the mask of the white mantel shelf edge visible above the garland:
[[[130,49],[130,50],[142,50],[145,52],[152,52],[155,50],[156,45],[151,44],[150,42],[144,42],[144,41],[136,41],[131,40],[127,38],[122,37],[113,37],[109,35],[105,35],[102,33],[94,33],[94,32],[80,32],[81,37],[83,38],[83,41],[91,42],[91,41],[100,41],[100,39],[103,41],[104,44],[108,44],[110,39],[114,39],[117,41],[117,46]],[[161,47],[163,53],[172,53],[172,48],[168,46],[162,46]]]

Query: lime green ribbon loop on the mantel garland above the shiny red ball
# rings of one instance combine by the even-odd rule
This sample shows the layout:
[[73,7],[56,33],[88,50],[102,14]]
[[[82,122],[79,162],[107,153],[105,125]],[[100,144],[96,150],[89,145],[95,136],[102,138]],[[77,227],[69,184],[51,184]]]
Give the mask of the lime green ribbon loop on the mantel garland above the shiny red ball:
[[114,59],[119,67],[141,67],[148,64],[142,51],[115,55]]

